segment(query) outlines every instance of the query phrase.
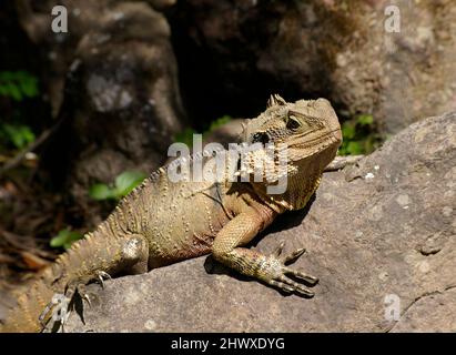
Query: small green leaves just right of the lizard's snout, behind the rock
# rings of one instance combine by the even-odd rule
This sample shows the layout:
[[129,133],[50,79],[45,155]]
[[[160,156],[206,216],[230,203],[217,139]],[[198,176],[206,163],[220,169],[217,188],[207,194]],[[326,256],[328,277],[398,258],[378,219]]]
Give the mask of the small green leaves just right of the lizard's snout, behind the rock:
[[368,154],[382,142],[382,136],[375,132],[372,114],[361,114],[342,123],[342,135],[340,155]]

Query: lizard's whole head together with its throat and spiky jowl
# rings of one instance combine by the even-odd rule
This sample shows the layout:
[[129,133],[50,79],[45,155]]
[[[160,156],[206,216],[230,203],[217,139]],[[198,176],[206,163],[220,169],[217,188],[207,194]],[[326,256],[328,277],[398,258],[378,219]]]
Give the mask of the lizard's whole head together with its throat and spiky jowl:
[[[330,101],[318,99],[288,103],[274,94],[266,111],[245,125],[243,141],[252,148],[254,143],[266,148],[252,149],[246,155],[244,171],[247,173],[255,171],[259,160],[268,162],[265,165],[268,168],[262,173],[263,182],[252,183],[253,187],[264,192],[265,186],[286,178],[286,192],[272,199],[286,209],[301,209],[318,185],[325,166],[335,158],[342,143],[342,132]],[[270,143],[274,158],[266,153]],[[280,152],[285,152],[285,163],[278,163]]]

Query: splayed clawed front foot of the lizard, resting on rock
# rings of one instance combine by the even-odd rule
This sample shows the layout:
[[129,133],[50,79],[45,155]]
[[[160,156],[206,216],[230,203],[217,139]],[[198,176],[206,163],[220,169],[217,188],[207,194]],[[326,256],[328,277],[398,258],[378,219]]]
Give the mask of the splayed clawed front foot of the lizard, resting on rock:
[[301,255],[303,255],[305,253],[305,248],[298,248],[295,252],[281,257],[283,247],[284,243],[276,248],[273,255],[266,258],[266,265],[262,270],[264,271],[264,274],[261,275],[261,278],[267,284],[285,292],[296,292],[302,296],[312,297],[314,295],[312,291],[286,276],[292,275],[296,278],[303,280],[310,285],[315,285],[318,282],[318,278],[314,276],[286,266],[287,264],[294,263]]

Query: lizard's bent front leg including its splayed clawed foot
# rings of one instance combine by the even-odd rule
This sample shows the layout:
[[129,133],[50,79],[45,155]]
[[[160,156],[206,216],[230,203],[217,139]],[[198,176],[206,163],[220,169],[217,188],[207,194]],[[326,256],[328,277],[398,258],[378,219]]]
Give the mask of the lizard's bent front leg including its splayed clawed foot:
[[222,264],[236,270],[241,274],[265,282],[285,292],[296,292],[312,297],[314,294],[287,275],[315,284],[317,278],[286,266],[304,253],[297,250],[286,257],[280,257],[283,245],[273,255],[266,256],[254,250],[242,247],[275,217],[266,206],[246,207],[231,220],[215,236],[212,255]]

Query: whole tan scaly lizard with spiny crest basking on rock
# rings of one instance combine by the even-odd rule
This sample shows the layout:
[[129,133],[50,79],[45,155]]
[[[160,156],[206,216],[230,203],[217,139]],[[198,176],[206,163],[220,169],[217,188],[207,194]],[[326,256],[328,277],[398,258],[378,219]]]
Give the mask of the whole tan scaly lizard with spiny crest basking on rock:
[[[312,296],[311,291],[286,276],[294,275],[310,284],[317,282],[285,266],[304,250],[278,257],[282,246],[266,256],[243,245],[280,213],[306,205],[342,142],[337,116],[324,99],[286,103],[272,95],[267,110],[245,128],[244,141],[287,144],[287,190],[283,194],[267,194],[266,187],[274,180],[174,183],[162,168],[19,297],[18,307],[10,312],[2,331],[42,329],[39,317],[43,315],[43,321],[49,321],[51,312],[43,310],[54,294],[72,298],[78,293],[84,297],[84,285],[107,274],[144,273],[209,253],[244,275],[286,292]],[[252,161],[257,154],[251,153]]]

